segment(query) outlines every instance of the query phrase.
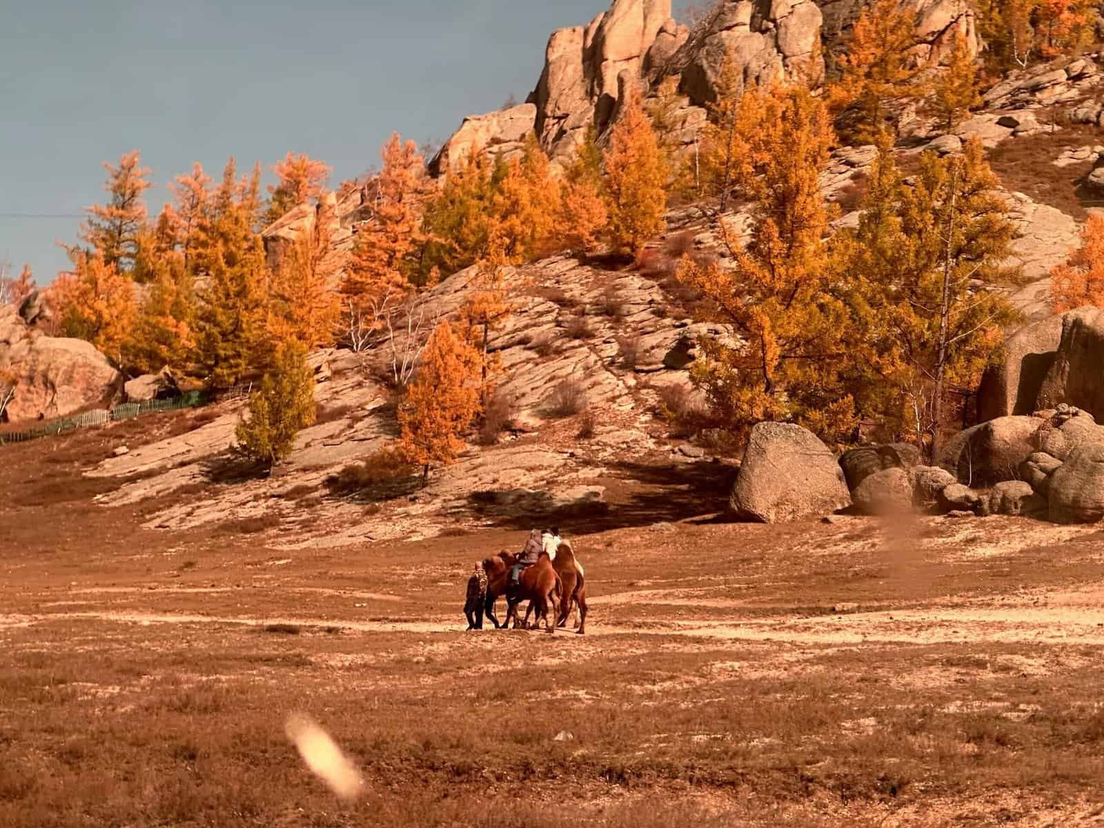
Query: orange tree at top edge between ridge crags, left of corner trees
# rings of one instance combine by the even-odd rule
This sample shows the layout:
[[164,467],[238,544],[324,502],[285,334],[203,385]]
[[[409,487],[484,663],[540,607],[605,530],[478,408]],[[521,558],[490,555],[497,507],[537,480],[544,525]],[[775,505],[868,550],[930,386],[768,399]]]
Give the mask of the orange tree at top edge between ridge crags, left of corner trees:
[[882,130],[895,129],[896,110],[922,94],[916,43],[915,4],[874,0],[863,9],[828,91],[842,137],[873,144]]

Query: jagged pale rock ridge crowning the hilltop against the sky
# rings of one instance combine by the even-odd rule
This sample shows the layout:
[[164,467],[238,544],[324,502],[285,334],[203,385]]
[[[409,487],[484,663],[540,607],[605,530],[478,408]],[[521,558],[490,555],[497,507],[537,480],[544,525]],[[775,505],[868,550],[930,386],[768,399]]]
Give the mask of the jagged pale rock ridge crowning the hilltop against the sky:
[[[919,57],[937,57],[959,33],[978,47],[966,0],[905,1],[915,2],[919,12]],[[680,95],[675,128],[691,144],[730,52],[747,84],[798,77],[819,83],[822,55],[839,46],[863,6],[863,0],[729,0],[690,31],[671,17],[670,0],[614,0],[587,25],[554,32],[528,100],[466,118],[431,171],[445,174],[473,152],[509,157],[531,132],[562,163],[587,127],[602,134],[616,119],[624,89],[636,86],[652,95],[668,77],[678,79]]]

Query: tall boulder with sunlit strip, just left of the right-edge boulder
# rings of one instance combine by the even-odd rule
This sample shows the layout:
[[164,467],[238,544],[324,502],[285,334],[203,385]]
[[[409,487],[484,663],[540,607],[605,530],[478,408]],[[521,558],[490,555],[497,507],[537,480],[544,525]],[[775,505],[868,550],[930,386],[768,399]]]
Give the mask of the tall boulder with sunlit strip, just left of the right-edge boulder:
[[981,378],[978,420],[986,422],[1036,411],[1043,380],[1062,341],[1062,317],[1029,325],[1005,342],[999,362]]

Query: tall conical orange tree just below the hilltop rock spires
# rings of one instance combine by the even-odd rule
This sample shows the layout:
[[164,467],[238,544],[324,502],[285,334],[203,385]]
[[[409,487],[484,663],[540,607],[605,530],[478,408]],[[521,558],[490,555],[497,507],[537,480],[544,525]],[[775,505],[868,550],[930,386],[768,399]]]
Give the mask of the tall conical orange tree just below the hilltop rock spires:
[[614,251],[636,256],[664,229],[667,163],[638,95],[624,109],[604,156],[609,241]]

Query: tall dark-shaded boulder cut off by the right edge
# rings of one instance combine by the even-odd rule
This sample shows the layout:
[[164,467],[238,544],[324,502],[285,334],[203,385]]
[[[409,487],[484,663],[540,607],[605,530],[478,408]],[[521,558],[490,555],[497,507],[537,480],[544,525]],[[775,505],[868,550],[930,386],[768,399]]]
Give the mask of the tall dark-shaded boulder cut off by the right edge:
[[1038,406],[1060,403],[1104,417],[1104,309],[1081,308],[1062,317],[1061,342],[1039,390]]

